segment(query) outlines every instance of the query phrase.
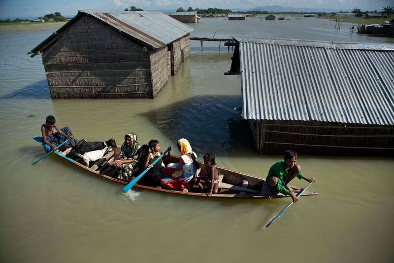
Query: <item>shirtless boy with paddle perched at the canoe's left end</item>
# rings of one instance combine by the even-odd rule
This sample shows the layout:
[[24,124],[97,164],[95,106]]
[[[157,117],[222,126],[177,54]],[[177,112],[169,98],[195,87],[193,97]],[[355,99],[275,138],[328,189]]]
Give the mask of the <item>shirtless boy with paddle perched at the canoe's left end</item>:
[[[54,132],[54,129],[57,132]],[[68,126],[59,128],[56,124],[54,116],[49,115],[45,118],[45,124],[41,125],[42,140],[44,142],[44,150],[49,152],[52,150],[58,150],[58,145],[66,141],[66,139],[72,140],[71,130]]]

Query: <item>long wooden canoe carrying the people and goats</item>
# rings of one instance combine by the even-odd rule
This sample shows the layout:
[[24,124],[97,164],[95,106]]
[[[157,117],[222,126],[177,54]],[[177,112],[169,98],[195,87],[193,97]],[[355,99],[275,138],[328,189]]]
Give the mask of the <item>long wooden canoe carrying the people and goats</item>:
[[[94,173],[100,177],[103,177],[105,179],[114,181],[119,184],[126,185],[128,184],[127,181],[117,179],[117,178],[112,178],[110,176],[107,176],[105,174],[101,174],[99,171],[99,167],[97,165],[93,165],[90,168],[78,163],[77,161],[68,158],[66,154],[71,150],[71,148],[68,148],[65,151],[55,151],[55,153],[62,158],[72,162],[73,164],[91,172]],[[120,148],[117,148],[113,150],[112,152],[107,153],[104,157],[107,158],[107,162],[109,164],[112,164],[115,159],[119,158],[119,152]],[[171,162],[178,162],[178,156],[171,155],[170,157],[167,157],[166,159],[163,159],[164,164],[171,163]],[[201,162],[200,162],[201,163]],[[203,163],[201,163],[201,167],[203,167]],[[219,193],[218,194],[213,194],[212,197],[227,197],[227,198],[267,198],[267,196],[263,196],[261,194],[261,189],[263,187],[263,182],[265,179],[255,177],[252,175],[248,175],[245,173],[233,171],[227,168],[219,167],[216,166],[220,175],[220,184],[219,184]],[[202,168],[203,169],[203,168]],[[204,171],[201,170],[199,171],[201,174],[204,174]],[[150,187],[150,186],[144,186],[140,184],[135,184],[134,187],[137,188],[143,188],[143,189],[150,189],[154,191],[160,191],[160,192],[166,192],[166,193],[174,193],[174,194],[182,194],[182,195],[192,195],[192,196],[204,196],[206,197],[206,192],[207,189],[200,189],[200,188],[191,188],[189,190],[183,190],[183,191],[178,191],[178,190],[171,190],[171,189],[165,189],[162,187]],[[295,190],[296,193],[298,193],[302,188],[298,187],[293,187],[292,188]],[[317,192],[314,191],[304,191],[302,193],[303,196],[305,195],[316,195],[318,194]],[[283,198],[283,197],[290,197],[289,195],[283,195],[279,193],[276,196],[273,196],[272,198]]]

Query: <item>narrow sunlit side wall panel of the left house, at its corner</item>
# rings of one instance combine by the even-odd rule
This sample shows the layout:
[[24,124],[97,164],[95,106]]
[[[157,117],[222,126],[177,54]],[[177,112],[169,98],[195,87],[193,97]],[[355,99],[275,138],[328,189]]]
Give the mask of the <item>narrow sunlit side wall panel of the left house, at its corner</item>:
[[151,54],[151,74],[153,97],[164,87],[168,81],[168,55],[167,46]]

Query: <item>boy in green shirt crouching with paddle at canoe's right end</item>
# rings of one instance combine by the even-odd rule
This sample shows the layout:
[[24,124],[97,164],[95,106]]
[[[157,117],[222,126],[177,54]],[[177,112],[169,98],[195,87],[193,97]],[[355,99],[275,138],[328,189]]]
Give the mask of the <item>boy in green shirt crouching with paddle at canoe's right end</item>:
[[298,198],[294,193],[293,188],[288,184],[295,177],[304,179],[307,182],[316,182],[315,178],[307,178],[301,173],[301,166],[296,164],[297,153],[294,150],[286,150],[285,157],[282,161],[275,163],[269,168],[267,179],[264,181],[262,188],[262,195],[272,198],[273,195],[283,193],[290,195],[296,203]]

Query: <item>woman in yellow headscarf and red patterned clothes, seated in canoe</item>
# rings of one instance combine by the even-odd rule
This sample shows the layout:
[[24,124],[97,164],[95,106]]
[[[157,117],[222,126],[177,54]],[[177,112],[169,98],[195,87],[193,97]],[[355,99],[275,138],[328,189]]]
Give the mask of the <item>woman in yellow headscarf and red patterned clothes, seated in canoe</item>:
[[189,141],[183,138],[178,141],[178,150],[181,152],[181,157],[179,157],[175,171],[182,169],[183,174],[177,178],[163,178],[161,184],[164,188],[189,189],[192,186],[192,179],[196,175],[197,169],[200,168],[197,162],[197,154],[192,151]]

